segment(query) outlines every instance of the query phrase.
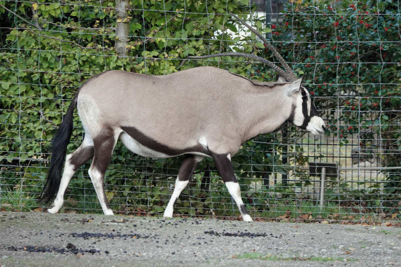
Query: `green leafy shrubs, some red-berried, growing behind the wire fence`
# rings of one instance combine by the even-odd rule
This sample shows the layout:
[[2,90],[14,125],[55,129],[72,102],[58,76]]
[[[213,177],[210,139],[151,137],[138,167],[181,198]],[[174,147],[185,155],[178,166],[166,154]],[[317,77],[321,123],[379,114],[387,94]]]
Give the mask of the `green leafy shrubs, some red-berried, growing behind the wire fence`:
[[[190,55],[228,50],[260,54],[273,61],[271,53],[263,50],[254,35],[246,38],[251,42],[240,40],[236,22],[225,15],[249,13],[249,7],[244,6],[248,1],[215,1],[206,6],[206,2],[191,0],[133,0],[128,7],[127,57],[118,57],[114,49],[114,1],[63,3],[0,2],[2,27],[8,29],[0,33],[0,184],[3,192],[23,192],[20,198],[38,197],[57,126],[78,88],[95,74],[125,70],[164,75],[211,65],[252,79],[274,77],[265,67],[242,59],[181,61]],[[330,3],[308,0],[297,7],[289,4],[283,24],[268,25],[265,32],[271,32],[271,40],[293,69],[306,75],[305,84],[315,96],[316,106],[326,111],[329,134],[345,144],[350,134],[359,133],[360,139],[365,140],[361,145],[367,148],[373,147],[371,140],[380,136],[382,151],[391,151],[382,154],[383,165],[396,166],[401,161],[400,153],[396,153],[400,150],[401,135],[397,5],[391,1],[364,0],[336,2],[335,7]],[[261,21],[254,22],[262,31]],[[222,29],[230,29],[234,35]],[[337,107],[342,108],[342,124],[337,123]],[[69,151],[77,148],[83,137],[77,117],[74,125]],[[282,146],[278,143],[274,134],[259,136],[245,143],[233,158],[247,208],[256,215],[276,201],[272,193],[281,197],[294,195],[286,186],[255,192],[251,185],[252,181],[267,178],[267,173],[288,171],[290,164],[283,164],[278,153]],[[294,149],[302,152],[299,147]],[[180,159],[145,159],[121,145],[115,151],[106,173],[107,196],[113,209],[162,212]],[[304,165],[306,161],[297,156],[291,164]],[[81,168],[71,182],[66,207],[99,210],[87,168],[88,165]],[[177,212],[238,215],[232,211],[231,197],[214,170],[210,159],[202,161],[194,181],[177,203]],[[302,177],[307,185],[307,175]],[[389,175],[388,179],[391,200],[400,193],[400,176]],[[8,201],[4,199],[2,196],[3,202]],[[37,205],[29,203],[32,208]]]

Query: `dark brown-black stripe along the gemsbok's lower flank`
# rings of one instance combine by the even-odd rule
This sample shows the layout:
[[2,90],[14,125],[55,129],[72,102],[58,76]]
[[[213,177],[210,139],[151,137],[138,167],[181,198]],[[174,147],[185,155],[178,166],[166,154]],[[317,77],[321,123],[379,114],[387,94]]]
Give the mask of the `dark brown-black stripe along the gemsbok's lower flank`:
[[206,155],[210,155],[210,151],[201,144],[184,149],[176,149],[157,142],[156,140],[146,136],[144,133],[142,133],[135,127],[121,126],[121,129],[128,135],[130,135],[133,139],[135,139],[137,142],[139,142],[141,145],[150,148],[154,151],[166,154],[168,156],[177,156],[188,152],[199,152]]

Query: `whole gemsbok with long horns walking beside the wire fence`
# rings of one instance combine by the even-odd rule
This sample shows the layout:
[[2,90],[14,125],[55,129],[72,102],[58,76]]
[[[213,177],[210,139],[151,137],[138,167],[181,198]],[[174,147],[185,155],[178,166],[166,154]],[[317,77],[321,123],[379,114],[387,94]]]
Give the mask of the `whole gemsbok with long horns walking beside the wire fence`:
[[[41,200],[49,202],[57,192],[51,213],[60,210],[64,193],[75,171],[89,159],[89,176],[104,214],[112,215],[103,182],[118,139],[132,152],[152,158],[186,154],[175,188],[164,211],[173,206],[188,184],[197,163],[212,157],[242,218],[252,221],[241,199],[231,158],[243,142],[278,130],[289,121],[313,134],[325,124],[308,90],[274,47],[247,23],[231,14],[277,57],[285,70],[266,59],[245,53],[221,53],[192,59],[240,56],[260,61],[280,76],[277,83],[262,83],[214,67],[198,67],[164,76],[107,71],[86,81],[74,96],[53,140],[49,174]],[[77,107],[85,137],[66,156]],[[62,163],[65,161],[64,172]]]

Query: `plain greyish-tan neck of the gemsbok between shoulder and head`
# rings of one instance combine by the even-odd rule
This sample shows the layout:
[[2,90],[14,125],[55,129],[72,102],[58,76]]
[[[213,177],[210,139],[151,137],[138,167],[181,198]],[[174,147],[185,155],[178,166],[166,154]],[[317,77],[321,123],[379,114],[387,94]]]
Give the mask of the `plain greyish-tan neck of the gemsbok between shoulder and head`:
[[241,105],[244,125],[243,141],[259,134],[273,132],[291,115],[291,99],[274,88],[266,92],[249,93]]

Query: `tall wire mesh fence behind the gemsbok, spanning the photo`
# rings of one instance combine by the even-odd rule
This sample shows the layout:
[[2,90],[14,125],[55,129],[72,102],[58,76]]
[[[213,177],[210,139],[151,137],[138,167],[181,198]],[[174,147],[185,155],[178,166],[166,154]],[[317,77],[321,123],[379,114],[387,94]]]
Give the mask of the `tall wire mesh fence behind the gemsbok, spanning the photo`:
[[[251,216],[399,222],[398,2],[0,2],[0,208],[43,207],[36,199],[48,172],[51,140],[72,97],[95,74],[119,69],[164,75],[217,66],[274,81],[274,72],[243,58],[188,58],[246,51],[277,62],[230,12],[263,32],[291,68],[305,75],[304,84],[328,128],[315,137],[285,124],[243,145],[232,161]],[[68,151],[83,140],[78,117],[74,127]],[[111,208],[125,214],[162,214],[182,156],[148,159],[121,144],[114,151],[105,177]],[[326,177],[324,203],[321,175],[309,171],[312,162],[337,166],[336,175]],[[89,163],[68,187],[65,212],[102,211],[88,176]],[[195,170],[174,213],[240,215],[209,158]]]

